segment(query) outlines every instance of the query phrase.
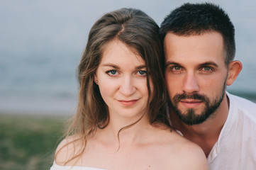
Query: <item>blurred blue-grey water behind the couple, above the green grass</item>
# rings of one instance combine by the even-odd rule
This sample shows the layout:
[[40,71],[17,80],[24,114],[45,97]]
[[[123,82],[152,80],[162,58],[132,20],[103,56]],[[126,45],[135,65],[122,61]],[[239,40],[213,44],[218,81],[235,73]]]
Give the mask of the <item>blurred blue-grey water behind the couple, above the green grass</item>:
[[[121,7],[140,8],[160,25],[186,1],[0,1],[0,113],[71,114],[76,67],[92,24]],[[199,2],[199,1],[197,1]],[[256,96],[256,3],[213,1],[235,25],[243,71],[228,91]]]

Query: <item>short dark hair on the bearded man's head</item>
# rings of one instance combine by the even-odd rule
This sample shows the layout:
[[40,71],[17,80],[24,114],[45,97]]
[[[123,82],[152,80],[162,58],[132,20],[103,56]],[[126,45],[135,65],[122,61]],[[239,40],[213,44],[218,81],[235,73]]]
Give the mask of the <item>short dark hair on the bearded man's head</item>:
[[228,14],[215,4],[183,4],[165,17],[160,27],[162,42],[170,32],[175,35],[201,35],[216,31],[223,37],[226,66],[235,57],[235,28]]

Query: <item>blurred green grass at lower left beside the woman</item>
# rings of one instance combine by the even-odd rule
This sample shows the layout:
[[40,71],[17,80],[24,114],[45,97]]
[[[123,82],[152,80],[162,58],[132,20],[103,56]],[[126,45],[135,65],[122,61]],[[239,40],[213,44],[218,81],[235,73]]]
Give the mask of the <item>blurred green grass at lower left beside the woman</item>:
[[50,169],[66,120],[0,114],[0,169]]

